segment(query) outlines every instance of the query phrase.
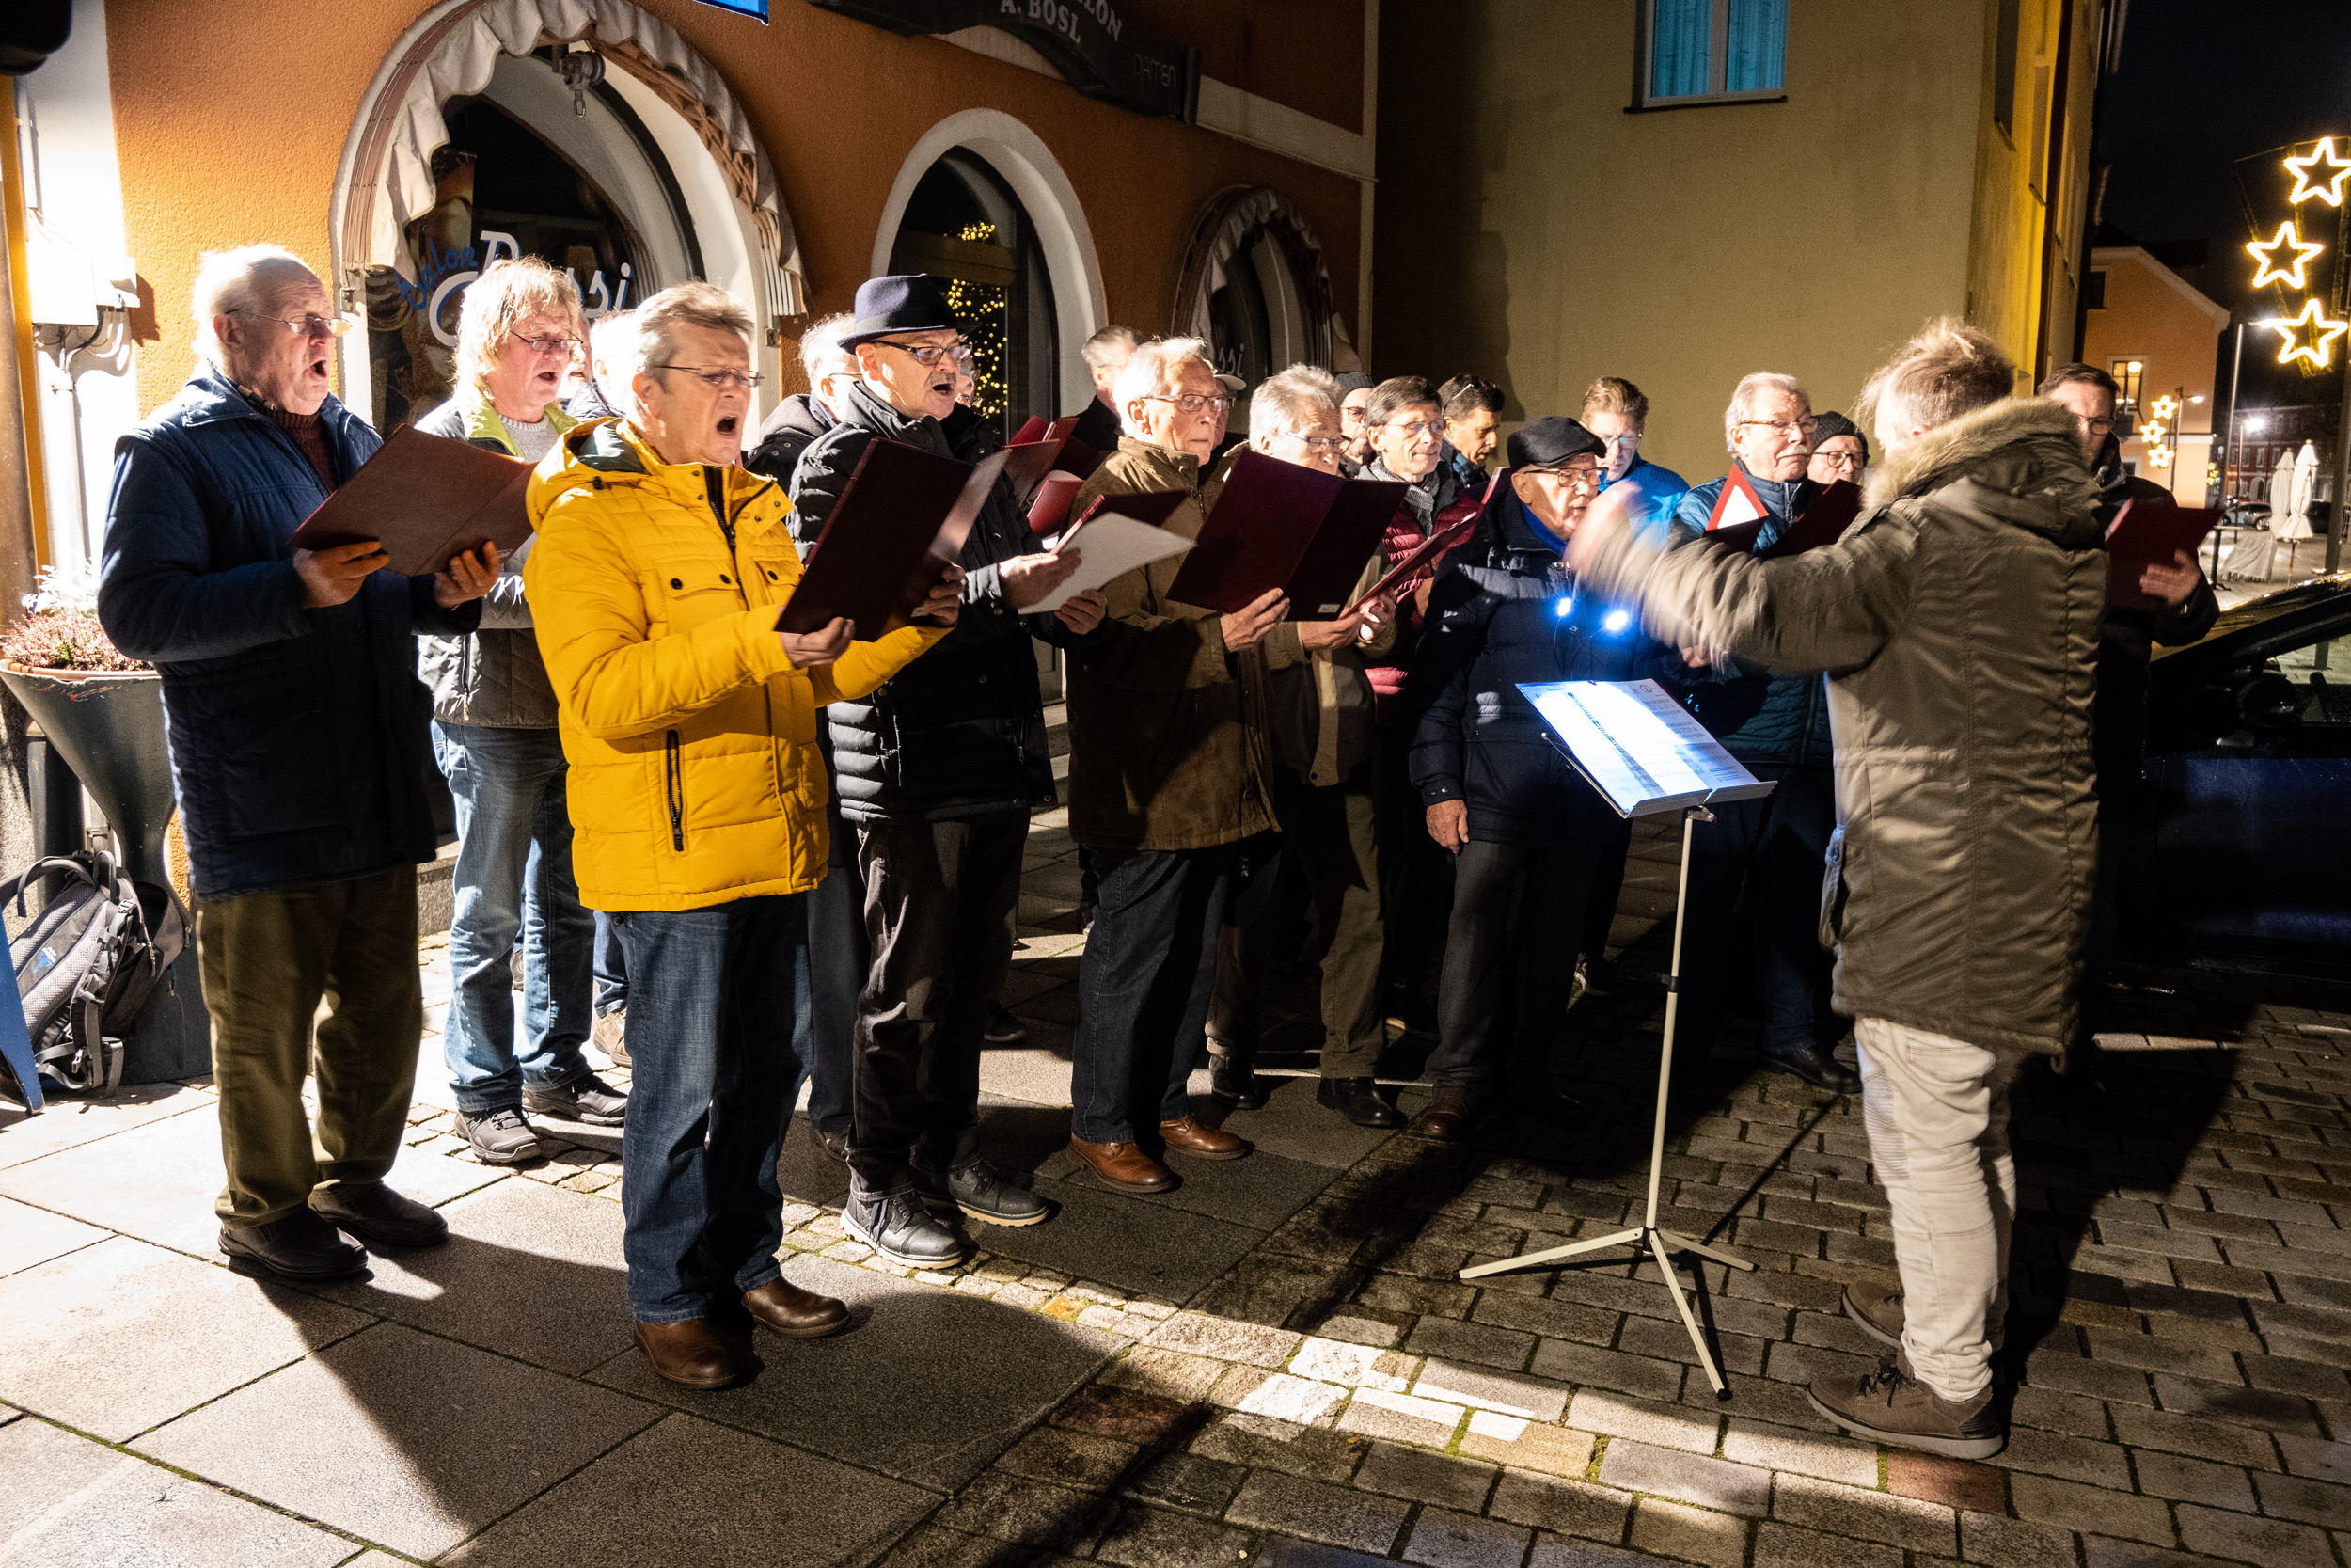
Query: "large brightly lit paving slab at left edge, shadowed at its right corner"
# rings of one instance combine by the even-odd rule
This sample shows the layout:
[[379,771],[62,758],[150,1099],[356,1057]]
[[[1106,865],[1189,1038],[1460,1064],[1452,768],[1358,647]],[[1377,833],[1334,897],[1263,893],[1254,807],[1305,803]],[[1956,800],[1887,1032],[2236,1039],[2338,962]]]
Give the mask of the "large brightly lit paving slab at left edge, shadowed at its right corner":
[[[125,1441],[369,1319],[129,1237],[0,1279],[0,1396]],[[139,1354],[125,1359],[125,1347]]]

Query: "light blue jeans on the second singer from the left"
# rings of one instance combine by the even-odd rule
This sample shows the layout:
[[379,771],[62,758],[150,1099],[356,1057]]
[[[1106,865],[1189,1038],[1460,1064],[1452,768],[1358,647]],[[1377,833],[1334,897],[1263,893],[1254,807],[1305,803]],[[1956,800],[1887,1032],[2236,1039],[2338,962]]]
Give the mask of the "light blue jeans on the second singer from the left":
[[[564,748],[552,729],[433,724],[433,757],[456,795],[449,1018],[442,1058],[468,1117],[522,1105],[590,1072],[588,950],[595,922],[571,879]],[[522,1048],[515,1044],[515,933],[522,933]]]

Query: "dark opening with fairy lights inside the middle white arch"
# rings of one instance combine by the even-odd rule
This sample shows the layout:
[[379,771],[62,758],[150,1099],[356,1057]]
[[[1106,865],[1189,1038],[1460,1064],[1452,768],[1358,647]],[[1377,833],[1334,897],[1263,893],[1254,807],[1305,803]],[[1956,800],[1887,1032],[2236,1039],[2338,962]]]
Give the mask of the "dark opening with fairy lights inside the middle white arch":
[[1053,273],[1020,197],[983,158],[957,148],[915,181],[889,268],[950,280],[973,350],[971,407],[999,440],[1030,414],[1060,411]]

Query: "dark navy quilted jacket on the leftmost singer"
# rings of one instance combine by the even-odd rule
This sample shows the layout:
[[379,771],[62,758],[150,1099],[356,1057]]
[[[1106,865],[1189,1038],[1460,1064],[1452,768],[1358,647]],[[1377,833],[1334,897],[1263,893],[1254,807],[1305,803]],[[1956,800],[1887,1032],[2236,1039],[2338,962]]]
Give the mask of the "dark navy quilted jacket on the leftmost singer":
[[[336,477],[383,442],[329,397]],[[327,498],[294,437],[202,367],[115,442],[99,621],[162,672],[172,785],[197,898],[343,882],[430,860],[433,712],[416,635],[470,632],[433,578],[379,571],[303,609],[294,548]]]

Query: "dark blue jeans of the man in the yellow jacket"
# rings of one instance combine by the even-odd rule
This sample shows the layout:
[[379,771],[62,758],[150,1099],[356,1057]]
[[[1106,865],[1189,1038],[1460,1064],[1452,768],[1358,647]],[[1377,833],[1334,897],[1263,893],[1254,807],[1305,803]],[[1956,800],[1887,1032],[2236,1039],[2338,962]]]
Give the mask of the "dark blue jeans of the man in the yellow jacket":
[[[628,1307],[682,1324],[776,1279],[776,1157],[806,1067],[806,893],[611,917],[628,957]],[[731,1302],[729,1302],[731,1305]]]

